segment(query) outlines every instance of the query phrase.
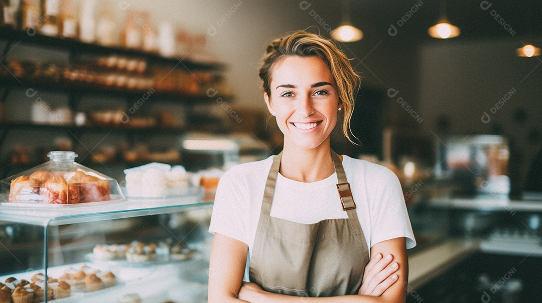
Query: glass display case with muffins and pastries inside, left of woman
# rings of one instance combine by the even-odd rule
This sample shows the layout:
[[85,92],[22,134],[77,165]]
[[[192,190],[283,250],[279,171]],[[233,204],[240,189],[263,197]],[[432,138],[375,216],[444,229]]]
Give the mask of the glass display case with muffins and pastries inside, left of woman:
[[13,302],[206,302],[212,203],[201,201],[0,203],[0,292]]

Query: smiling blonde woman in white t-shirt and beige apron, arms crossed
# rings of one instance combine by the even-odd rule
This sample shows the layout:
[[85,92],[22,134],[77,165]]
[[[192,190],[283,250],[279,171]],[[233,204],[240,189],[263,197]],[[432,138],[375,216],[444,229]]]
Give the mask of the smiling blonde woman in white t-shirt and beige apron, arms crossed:
[[284,147],[218,185],[209,302],[404,302],[415,240],[398,179],[330,147],[338,113],[350,140],[348,58],[297,31],[268,45],[260,78]]

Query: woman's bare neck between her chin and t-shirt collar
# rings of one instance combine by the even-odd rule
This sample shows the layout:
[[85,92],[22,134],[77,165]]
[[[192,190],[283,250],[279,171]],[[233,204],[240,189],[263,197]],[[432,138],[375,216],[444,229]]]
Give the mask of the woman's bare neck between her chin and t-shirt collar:
[[312,149],[302,149],[284,142],[280,166],[283,176],[300,182],[316,182],[326,179],[334,172],[329,141]]

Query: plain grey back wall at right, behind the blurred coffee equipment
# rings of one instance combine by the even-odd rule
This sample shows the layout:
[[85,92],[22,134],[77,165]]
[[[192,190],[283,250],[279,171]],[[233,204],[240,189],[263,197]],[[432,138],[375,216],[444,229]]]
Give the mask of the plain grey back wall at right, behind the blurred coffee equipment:
[[542,61],[516,56],[519,46],[517,38],[422,45],[418,106],[421,127],[435,140],[431,131],[438,134],[441,117],[449,121],[450,134],[508,136],[522,183],[541,148]]

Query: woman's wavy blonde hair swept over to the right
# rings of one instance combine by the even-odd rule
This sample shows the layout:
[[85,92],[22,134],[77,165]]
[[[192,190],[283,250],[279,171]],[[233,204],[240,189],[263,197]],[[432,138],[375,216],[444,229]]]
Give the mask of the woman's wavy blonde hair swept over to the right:
[[263,64],[259,70],[260,78],[263,81],[263,91],[268,96],[271,95],[270,84],[273,65],[285,56],[315,56],[324,60],[327,67],[330,68],[333,80],[337,83],[339,102],[343,103],[343,134],[346,139],[356,144],[350,138],[350,134],[356,137],[350,128],[350,119],[354,111],[354,101],[361,78],[352,69],[349,58],[332,41],[304,30],[275,39],[267,45],[266,54],[262,58]]

